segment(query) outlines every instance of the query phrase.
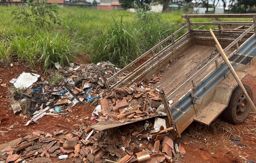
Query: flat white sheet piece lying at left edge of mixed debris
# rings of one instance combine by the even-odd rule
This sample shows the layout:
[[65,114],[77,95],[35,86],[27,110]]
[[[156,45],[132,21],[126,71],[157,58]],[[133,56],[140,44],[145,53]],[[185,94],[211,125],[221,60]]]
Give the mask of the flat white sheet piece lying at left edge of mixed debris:
[[40,75],[34,73],[25,73],[20,74],[18,79],[13,84],[16,88],[27,88],[31,86],[34,82],[38,80]]

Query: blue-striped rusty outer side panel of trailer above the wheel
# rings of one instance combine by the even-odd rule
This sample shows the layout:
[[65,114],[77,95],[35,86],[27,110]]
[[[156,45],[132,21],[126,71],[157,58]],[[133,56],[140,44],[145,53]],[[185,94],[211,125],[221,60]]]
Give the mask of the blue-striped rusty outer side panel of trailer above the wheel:
[[[256,44],[255,34],[253,34],[247,40],[247,42],[242,44],[238,50],[234,51],[233,55],[235,53],[237,53],[238,51],[243,51],[243,53],[245,53],[248,58],[255,59],[256,53],[253,53],[253,51],[254,52],[256,51],[255,49],[253,49],[253,48],[255,48],[255,46],[251,46],[248,51],[246,50],[246,47],[250,46],[250,44],[251,45]],[[245,49],[243,49],[243,48],[245,48]],[[232,57],[232,55],[230,57]],[[245,65],[243,66],[243,68],[247,67],[246,65],[248,65],[249,63],[250,63],[250,61],[247,61],[246,63],[244,63]],[[237,67],[239,68],[238,65],[239,65],[239,59],[238,58],[232,59],[232,66],[235,69]],[[239,70],[241,70],[241,67]],[[180,101],[178,101],[172,105],[171,113],[174,118],[174,122],[177,123],[177,126],[176,126],[177,130],[180,133],[183,132],[187,128],[187,126],[189,126],[189,124],[192,123],[192,121],[194,121],[194,117],[196,117],[196,114],[199,113],[200,110],[203,110],[204,106],[209,104],[208,103],[209,101],[207,101],[205,99],[205,98],[209,98],[209,97],[207,97],[207,94],[209,95],[209,93],[210,93],[211,95],[213,95],[214,92],[212,92],[212,90],[215,91],[215,89],[213,89],[213,88],[215,88],[218,83],[223,81],[223,79],[225,78],[225,74],[228,75],[229,73],[230,73],[230,71],[228,70],[227,65],[220,64],[220,66],[218,68],[213,70],[211,73],[209,73],[209,75],[207,75],[207,77],[205,77],[202,81],[200,81],[200,84],[198,84],[198,86],[196,86],[194,88],[193,92],[191,91],[192,93],[194,93],[194,96],[198,97],[199,99],[194,99],[194,101],[193,101],[191,92],[188,92],[186,95],[184,95],[184,97],[182,97],[182,99],[180,99]],[[209,100],[211,100],[211,99],[209,99]],[[194,102],[196,104],[201,104],[201,106],[197,109],[194,108]],[[202,104],[204,102],[205,102],[205,104]],[[223,108],[223,109],[225,109],[225,108]]]

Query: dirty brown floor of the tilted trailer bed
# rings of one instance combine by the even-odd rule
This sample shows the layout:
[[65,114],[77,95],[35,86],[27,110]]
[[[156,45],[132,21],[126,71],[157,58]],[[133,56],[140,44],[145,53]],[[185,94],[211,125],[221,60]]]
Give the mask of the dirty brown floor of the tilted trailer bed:
[[[154,84],[158,86],[162,84],[160,89],[164,89],[165,93],[168,93],[167,96],[171,93],[171,90],[178,88],[184,81],[189,79],[193,74],[195,74],[201,67],[205,65],[205,62],[209,59],[213,50],[212,46],[203,46],[203,45],[194,45],[191,46],[187,51],[181,54],[177,59],[174,59],[174,62],[171,62],[169,66],[165,66],[161,71],[162,80]],[[229,56],[234,49],[229,49],[226,52],[226,55]],[[213,55],[211,55],[211,58]],[[209,59],[210,60],[210,59]],[[221,59],[219,59],[219,63]],[[200,79],[203,79],[211,70],[214,70],[215,64],[212,64],[205,70],[200,76],[197,82],[200,82]],[[198,83],[196,83],[198,84]],[[178,93],[178,98],[172,99],[174,102],[182,97],[189,89],[192,88],[191,84],[188,84],[183,90]],[[169,93],[170,92],[170,93]]]

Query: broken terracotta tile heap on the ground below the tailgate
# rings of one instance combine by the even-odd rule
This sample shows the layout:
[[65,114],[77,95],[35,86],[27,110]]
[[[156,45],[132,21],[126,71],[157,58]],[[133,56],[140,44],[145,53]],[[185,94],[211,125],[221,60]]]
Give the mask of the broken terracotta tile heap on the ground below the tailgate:
[[1,150],[0,161],[48,163],[50,158],[58,157],[72,158],[76,163],[171,163],[173,155],[176,159],[185,154],[183,147],[173,143],[171,132],[173,128],[166,128],[165,119],[160,118],[101,132],[90,127],[79,132],[54,130],[52,134],[35,131]]

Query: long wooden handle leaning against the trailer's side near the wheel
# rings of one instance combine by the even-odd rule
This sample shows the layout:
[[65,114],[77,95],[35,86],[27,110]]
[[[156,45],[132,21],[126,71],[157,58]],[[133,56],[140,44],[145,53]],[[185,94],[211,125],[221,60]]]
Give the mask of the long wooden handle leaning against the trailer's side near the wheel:
[[234,70],[233,66],[229,62],[229,59],[227,58],[227,55],[223,51],[223,48],[220,46],[220,43],[218,42],[218,39],[216,38],[216,36],[214,35],[214,33],[211,29],[209,31],[210,31],[212,37],[214,38],[214,41],[216,42],[215,47],[217,48],[217,50],[220,53],[221,57],[223,58],[224,62],[227,64],[227,67],[229,68],[230,72],[232,73],[232,75],[236,79],[240,88],[243,90],[243,93],[245,94],[245,97],[247,98],[247,100],[249,101],[249,104],[252,106],[254,112],[256,113],[256,107],[253,104],[252,99],[249,97],[248,93],[246,92],[245,87],[243,86],[242,82],[240,81],[239,77],[236,74],[236,71]]

